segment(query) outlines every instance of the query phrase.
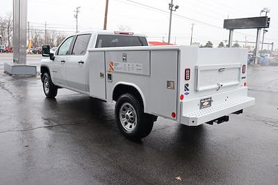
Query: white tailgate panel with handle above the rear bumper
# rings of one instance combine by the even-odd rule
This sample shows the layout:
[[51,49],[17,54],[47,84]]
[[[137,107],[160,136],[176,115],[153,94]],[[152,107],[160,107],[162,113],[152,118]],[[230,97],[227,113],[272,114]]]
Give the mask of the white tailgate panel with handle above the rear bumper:
[[195,90],[224,90],[227,87],[239,86],[240,63],[221,65],[195,66]]

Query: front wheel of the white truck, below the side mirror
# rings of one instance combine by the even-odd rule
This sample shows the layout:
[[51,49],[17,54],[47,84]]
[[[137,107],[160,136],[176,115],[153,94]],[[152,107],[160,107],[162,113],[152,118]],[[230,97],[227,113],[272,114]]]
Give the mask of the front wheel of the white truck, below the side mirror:
[[57,87],[52,83],[50,75],[45,72],[42,76],[44,95],[47,98],[54,98],[57,95]]

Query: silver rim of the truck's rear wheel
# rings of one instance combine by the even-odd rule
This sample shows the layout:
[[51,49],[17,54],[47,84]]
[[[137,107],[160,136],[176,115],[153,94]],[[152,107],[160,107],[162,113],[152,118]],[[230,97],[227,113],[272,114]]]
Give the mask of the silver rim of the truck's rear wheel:
[[131,132],[136,128],[137,114],[134,107],[131,104],[122,104],[120,108],[120,122],[122,124],[122,127],[127,132]]

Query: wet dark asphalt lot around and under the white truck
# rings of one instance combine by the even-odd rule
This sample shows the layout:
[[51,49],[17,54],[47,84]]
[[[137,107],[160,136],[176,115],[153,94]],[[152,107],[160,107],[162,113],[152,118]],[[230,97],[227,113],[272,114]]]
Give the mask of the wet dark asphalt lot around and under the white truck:
[[65,89],[46,99],[39,76],[3,73],[8,60],[0,55],[0,184],[278,184],[278,66],[248,69],[256,105],[229,122],[158,118],[134,143],[115,104]]

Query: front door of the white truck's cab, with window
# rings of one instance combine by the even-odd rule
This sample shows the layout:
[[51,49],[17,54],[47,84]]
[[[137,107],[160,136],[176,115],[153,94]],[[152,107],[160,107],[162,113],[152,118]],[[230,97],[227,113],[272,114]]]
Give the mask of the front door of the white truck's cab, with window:
[[69,60],[70,47],[72,45],[73,36],[67,38],[57,49],[53,66],[51,67],[52,77],[56,85],[67,86],[65,64]]

